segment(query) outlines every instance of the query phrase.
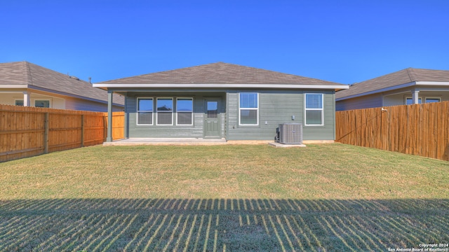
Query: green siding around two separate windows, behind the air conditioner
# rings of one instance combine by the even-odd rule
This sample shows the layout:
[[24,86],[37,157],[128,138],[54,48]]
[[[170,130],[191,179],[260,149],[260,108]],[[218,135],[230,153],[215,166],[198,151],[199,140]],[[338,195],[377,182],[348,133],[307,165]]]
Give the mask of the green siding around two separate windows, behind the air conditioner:
[[[239,93],[259,93],[259,125],[239,125]],[[304,125],[304,93],[322,93],[324,125]],[[295,120],[292,117],[295,116]],[[227,93],[227,139],[273,140],[280,123],[302,123],[304,140],[335,140],[335,94],[333,91],[229,90]]]

